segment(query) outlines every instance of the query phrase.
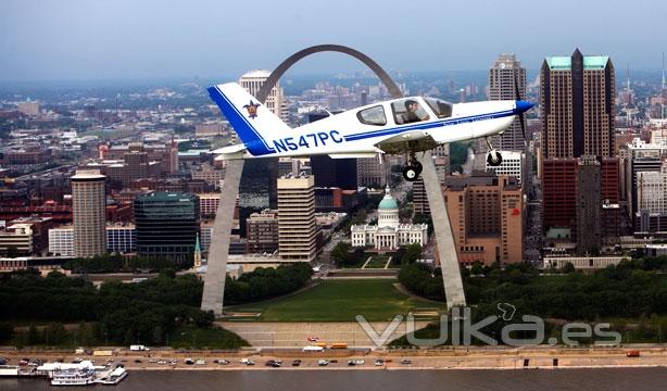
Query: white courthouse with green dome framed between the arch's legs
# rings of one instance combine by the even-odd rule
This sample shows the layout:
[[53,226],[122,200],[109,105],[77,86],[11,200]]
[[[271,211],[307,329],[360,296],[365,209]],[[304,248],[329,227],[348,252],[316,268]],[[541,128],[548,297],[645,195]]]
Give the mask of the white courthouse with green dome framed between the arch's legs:
[[393,251],[412,243],[424,247],[428,240],[426,224],[400,223],[399,204],[391,197],[389,186],[378,205],[378,225],[353,225],[350,231],[353,247],[373,247],[379,251]]

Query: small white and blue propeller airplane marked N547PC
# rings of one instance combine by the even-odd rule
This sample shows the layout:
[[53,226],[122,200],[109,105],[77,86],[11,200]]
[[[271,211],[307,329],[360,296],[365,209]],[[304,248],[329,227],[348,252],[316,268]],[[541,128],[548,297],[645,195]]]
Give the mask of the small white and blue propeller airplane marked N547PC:
[[[517,86],[515,79],[515,87]],[[331,159],[406,154],[403,177],[417,179],[421,164],[416,153],[452,141],[487,138],[487,162],[502,163],[489,136],[501,135],[518,116],[526,136],[524,113],[533,106],[520,100],[456,103],[429,97],[410,97],[372,103],[290,128],[236,83],[210,87],[217,104],[242,143],[213,151],[218,160],[329,155]]]

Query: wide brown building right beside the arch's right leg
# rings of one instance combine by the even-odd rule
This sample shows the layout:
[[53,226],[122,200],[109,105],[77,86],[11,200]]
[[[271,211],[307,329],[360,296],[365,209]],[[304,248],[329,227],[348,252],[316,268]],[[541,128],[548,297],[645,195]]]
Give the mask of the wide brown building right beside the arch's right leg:
[[458,262],[523,262],[523,192],[516,179],[492,175],[448,178],[444,191]]

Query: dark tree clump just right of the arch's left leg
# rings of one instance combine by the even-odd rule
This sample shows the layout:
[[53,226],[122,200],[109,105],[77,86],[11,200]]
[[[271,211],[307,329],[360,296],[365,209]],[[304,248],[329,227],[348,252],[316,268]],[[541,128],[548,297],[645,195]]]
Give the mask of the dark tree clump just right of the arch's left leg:
[[241,304],[291,293],[305,287],[312,275],[313,268],[305,262],[280,265],[277,268],[257,267],[238,279],[227,277],[225,302]]

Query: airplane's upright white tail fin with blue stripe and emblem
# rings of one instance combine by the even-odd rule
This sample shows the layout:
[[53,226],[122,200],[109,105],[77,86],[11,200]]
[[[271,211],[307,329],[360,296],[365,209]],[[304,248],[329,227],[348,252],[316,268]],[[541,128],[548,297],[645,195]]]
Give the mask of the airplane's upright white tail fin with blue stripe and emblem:
[[289,126],[278,118],[256,98],[236,83],[209,87],[211,99],[221,109],[234,131],[253,155],[274,153],[268,140]]

